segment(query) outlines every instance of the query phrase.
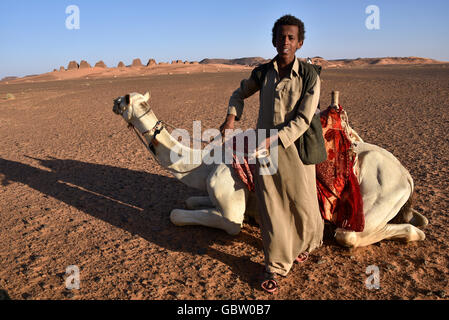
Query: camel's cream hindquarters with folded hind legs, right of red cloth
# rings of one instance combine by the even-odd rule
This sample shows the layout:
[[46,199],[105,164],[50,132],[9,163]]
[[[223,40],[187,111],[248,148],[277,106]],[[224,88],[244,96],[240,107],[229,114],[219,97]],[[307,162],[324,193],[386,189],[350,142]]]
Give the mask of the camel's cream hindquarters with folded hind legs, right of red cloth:
[[343,246],[362,247],[384,239],[423,240],[424,232],[412,224],[425,225],[427,219],[416,211],[406,210],[406,214],[399,217],[400,224],[390,223],[412,194],[413,180],[408,171],[382,148],[366,143],[359,147],[365,228],[363,232],[337,229],[337,242]]

